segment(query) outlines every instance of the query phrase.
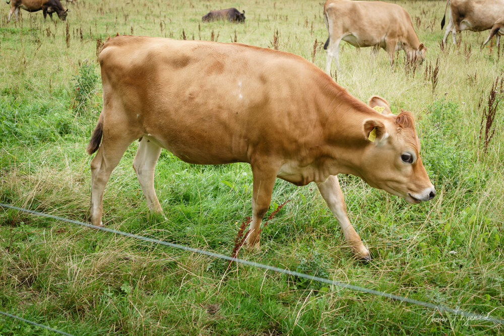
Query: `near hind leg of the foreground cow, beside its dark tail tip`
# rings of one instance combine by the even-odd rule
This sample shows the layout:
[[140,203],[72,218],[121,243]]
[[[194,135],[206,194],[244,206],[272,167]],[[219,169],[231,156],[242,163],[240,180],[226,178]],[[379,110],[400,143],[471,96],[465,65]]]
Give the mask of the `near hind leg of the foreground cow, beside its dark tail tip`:
[[91,224],[102,225],[105,185],[124,151],[135,139],[138,139],[138,137],[129,132],[127,126],[123,124],[104,124],[101,146],[91,161]]

